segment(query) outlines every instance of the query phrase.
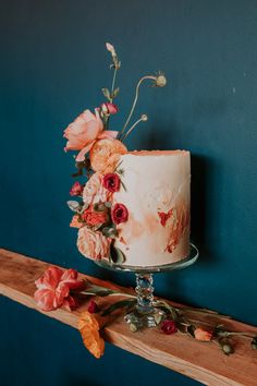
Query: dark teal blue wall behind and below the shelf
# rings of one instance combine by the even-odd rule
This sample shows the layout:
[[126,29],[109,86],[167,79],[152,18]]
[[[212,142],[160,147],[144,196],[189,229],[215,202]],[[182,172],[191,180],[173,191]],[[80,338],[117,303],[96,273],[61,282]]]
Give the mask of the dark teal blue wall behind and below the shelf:
[[[164,70],[166,88],[142,92],[137,112],[149,121],[128,146],[192,152],[200,260],[156,277],[156,293],[257,324],[257,2],[2,0],[0,20],[0,244],[133,285],[133,276],[78,254],[65,206],[73,161],[62,131],[101,102],[109,40],[122,59],[113,128],[135,82]],[[96,361],[70,327],[7,299],[0,304],[3,386],[197,384],[111,346]]]

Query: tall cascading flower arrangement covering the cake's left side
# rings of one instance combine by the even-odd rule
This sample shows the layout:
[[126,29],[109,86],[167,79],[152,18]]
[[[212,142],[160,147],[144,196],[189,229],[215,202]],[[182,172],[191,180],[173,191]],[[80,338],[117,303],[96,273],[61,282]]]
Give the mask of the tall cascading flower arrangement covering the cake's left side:
[[70,200],[68,205],[74,213],[71,227],[78,228],[78,251],[93,260],[107,257],[112,263],[122,263],[125,256],[115,246],[115,237],[119,236],[119,225],[127,221],[130,213],[124,203],[113,205],[112,196],[122,189],[126,190],[120,162],[120,156],[127,153],[123,141],[139,122],[147,121],[147,116],[142,114],[130,125],[142,83],[150,81],[154,87],[163,87],[167,80],[162,73],[143,76],[122,130],[110,130],[111,117],[119,111],[113,101],[119,95],[115,81],[121,61],[111,44],[107,43],[106,47],[111,53],[110,69],[113,71],[111,88],[102,88],[107,100],[95,108],[95,113],[88,109],[82,112],[64,130],[68,140],[64,149],[78,152],[75,155],[77,172],[73,176],[86,176],[88,179],[86,183],[76,181],[73,184],[70,195],[77,200]]

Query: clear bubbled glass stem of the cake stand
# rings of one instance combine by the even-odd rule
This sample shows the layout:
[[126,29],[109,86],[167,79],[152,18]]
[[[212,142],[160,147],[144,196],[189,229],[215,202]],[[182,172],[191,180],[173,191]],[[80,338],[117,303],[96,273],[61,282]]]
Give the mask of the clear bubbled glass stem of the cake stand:
[[136,309],[142,314],[154,312],[154,279],[151,274],[136,274]]

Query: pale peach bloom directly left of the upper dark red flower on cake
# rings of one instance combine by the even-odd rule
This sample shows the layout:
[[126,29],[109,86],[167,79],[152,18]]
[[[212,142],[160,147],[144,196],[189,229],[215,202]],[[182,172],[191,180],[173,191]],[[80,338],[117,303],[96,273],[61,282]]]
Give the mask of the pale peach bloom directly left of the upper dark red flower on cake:
[[89,205],[110,201],[111,193],[102,184],[102,176],[94,173],[83,191],[83,201]]

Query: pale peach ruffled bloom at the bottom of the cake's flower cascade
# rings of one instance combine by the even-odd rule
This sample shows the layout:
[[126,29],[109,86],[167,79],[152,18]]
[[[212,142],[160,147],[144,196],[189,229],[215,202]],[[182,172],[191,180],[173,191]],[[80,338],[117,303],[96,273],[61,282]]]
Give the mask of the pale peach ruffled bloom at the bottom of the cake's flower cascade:
[[106,238],[99,231],[93,231],[87,227],[78,230],[77,248],[85,256],[93,260],[101,260],[108,257],[110,253],[111,239]]

